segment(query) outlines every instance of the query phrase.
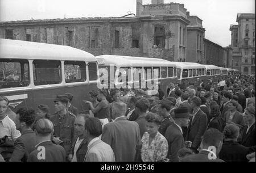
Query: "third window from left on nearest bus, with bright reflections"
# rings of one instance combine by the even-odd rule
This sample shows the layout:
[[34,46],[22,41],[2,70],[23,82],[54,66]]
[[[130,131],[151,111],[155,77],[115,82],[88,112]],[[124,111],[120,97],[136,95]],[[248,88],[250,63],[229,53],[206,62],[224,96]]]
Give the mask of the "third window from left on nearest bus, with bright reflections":
[[64,73],[66,83],[86,81],[85,62],[65,61]]

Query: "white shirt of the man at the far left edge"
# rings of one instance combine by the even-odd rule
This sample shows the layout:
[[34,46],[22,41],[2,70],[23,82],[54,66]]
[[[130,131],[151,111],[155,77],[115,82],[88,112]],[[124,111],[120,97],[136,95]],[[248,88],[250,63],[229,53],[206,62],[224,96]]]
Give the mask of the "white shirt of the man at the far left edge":
[[10,140],[15,141],[20,135],[19,130],[16,130],[14,121],[6,115],[5,118],[0,121],[0,138],[8,136]]

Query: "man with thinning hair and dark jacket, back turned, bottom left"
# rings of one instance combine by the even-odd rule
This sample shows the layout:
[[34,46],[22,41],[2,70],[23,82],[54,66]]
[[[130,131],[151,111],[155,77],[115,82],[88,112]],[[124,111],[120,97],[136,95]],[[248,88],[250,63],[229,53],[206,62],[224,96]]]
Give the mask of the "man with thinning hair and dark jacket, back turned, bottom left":
[[28,162],[66,161],[65,149],[60,145],[53,144],[51,141],[53,134],[53,124],[50,120],[39,119],[36,122],[35,133],[38,145],[36,145],[36,149],[32,151],[28,156]]

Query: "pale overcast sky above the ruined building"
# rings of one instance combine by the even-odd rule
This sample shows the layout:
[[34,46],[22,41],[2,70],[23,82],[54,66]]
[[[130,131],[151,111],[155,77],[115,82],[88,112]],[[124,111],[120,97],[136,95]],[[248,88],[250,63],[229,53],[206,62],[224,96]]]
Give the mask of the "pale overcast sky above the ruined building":
[[[190,15],[203,20],[205,38],[226,47],[230,44],[230,24],[237,24],[237,13],[255,13],[255,0],[165,0],[184,3]],[[143,4],[151,3],[144,0]],[[119,17],[136,14],[136,0],[0,0],[0,21]]]

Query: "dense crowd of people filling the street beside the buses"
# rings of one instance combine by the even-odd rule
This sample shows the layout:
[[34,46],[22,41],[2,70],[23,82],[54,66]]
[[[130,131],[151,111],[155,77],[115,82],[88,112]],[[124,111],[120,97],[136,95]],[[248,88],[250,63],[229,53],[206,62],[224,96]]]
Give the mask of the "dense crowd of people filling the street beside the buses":
[[14,113],[0,96],[0,161],[255,161],[255,77],[102,88],[84,100],[86,114],[72,100],[56,96],[52,115],[44,104]]

